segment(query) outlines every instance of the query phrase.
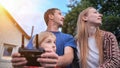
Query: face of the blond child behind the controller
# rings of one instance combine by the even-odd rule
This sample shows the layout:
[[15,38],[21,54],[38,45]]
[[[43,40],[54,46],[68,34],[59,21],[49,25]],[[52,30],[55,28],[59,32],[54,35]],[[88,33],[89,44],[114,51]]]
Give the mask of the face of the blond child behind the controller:
[[56,52],[56,45],[55,45],[56,39],[52,36],[48,36],[44,41],[41,43],[40,47],[46,49],[53,49],[53,51]]

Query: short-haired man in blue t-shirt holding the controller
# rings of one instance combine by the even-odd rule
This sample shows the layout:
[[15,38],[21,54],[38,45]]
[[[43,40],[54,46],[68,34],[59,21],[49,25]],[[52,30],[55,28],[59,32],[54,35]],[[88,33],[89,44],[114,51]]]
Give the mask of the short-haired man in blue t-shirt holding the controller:
[[[56,36],[57,54],[53,53],[50,49],[47,49],[46,52],[41,55],[41,58],[37,59],[37,61],[40,62],[43,67],[55,67],[57,65],[64,67],[67,66],[69,68],[69,64],[72,63],[74,58],[74,49],[76,49],[76,44],[71,35],[59,32],[58,30],[59,27],[63,26],[64,16],[62,16],[59,9],[51,8],[45,12],[44,19],[47,24],[46,31],[50,31]],[[32,48],[32,42],[29,42],[27,47]],[[18,62],[17,60],[20,61],[20,59],[16,56],[20,55],[13,54],[13,66],[25,65],[27,62],[25,61],[25,58],[21,58],[22,61]]]

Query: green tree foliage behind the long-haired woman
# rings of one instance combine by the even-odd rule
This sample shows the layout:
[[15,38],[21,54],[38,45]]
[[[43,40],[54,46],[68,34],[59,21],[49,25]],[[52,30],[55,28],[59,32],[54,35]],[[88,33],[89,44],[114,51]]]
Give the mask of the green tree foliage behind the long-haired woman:
[[62,31],[75,35],[79,13],[87,7],[95,7],[103,16],[101,29],[114,32],[120,27],[120,0],[81,0],[66,14]]

